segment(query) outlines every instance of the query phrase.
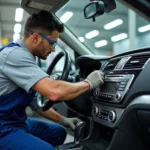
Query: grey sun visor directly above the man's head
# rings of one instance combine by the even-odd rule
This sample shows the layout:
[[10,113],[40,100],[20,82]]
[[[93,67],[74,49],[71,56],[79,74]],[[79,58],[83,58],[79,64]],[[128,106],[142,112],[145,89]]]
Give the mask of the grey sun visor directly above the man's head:
[[63,7],[69,0],[21,0],[21,7],[29,14],[40,10],[56,12]]

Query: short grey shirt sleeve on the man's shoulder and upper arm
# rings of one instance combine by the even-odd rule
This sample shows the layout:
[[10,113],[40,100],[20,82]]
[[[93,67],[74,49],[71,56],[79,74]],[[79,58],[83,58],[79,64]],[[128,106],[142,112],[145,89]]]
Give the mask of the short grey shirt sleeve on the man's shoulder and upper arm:
[[32,54],[23,48],[14,49],[9,53],[2,71],[17,86],[27,92],[40,79],[48,76],[37,66]]

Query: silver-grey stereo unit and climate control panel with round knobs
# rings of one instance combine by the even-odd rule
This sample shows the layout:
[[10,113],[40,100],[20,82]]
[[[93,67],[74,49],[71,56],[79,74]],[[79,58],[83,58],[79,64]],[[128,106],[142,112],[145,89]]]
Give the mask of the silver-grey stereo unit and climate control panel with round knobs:
[[134,74],[106,74],[105,84],[93,91],[92,118],[95,122],[108,127],[114,127],[123,113],[123,109],[109,107],[104,103],[117,104],[123,101],[135,75]]

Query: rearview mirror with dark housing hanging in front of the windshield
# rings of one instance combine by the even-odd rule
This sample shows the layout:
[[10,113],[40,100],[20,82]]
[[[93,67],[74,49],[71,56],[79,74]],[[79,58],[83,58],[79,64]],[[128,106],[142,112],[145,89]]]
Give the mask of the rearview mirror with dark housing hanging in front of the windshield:
[[86,19],[93,18],[93,21],[95,21],[97,16],[104,14],[104,8],[105,6],[102,1],[92,1],[84,8],[84,17]]

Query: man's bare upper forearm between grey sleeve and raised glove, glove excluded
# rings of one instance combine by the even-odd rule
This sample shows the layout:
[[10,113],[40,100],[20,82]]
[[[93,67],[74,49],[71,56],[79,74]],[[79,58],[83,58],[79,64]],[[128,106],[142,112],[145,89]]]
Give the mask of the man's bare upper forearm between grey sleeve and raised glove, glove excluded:
[[87,91],[89,84],[87,82],[69,83],[46,77],[35,84],[33,89],[52,101],[69,100]]

